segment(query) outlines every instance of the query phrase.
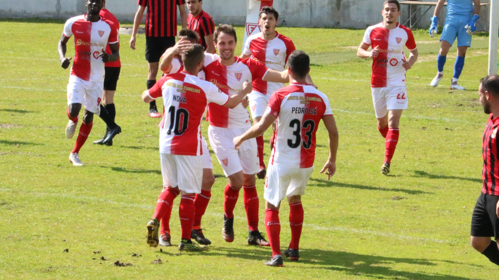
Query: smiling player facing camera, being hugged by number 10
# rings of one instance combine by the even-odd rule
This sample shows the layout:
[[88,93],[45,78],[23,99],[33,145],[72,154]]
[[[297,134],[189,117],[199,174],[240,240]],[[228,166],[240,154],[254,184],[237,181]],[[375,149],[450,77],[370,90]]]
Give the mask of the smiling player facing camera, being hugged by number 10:
[[[266,68],[260,62],[234,56],[237,35],[231,25],[219,25],[214,37],[220,56],[212,55],[212,63],[207,64],[205,61],[204,72],[206,80],[214,83],[225,94],[232,96],[243,89],[244,82],[252,82],[258,78],[267,82],[289,81],[287,71],[277,72]],[[234,137],[245,133],[251,127],[248,110],[243,105],[227,109],[211,103],[208,105],[208,113],[210,145],[229,180],[225,188],[222,236],[227,242],[234,241],[234,207],[239,198],[239,191],[243,188],[250,231],[248,244],[268,246],[268,242],[258,231],[258,194],[254,176],[259,171],[256,141],[246,141],[239,150],[234,148],[232,143]]]

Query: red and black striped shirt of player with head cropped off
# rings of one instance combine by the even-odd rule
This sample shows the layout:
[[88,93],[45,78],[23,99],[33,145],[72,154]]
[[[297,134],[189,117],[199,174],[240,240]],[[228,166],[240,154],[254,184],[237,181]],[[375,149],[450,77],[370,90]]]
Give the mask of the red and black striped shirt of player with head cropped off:
[[146,36],[177,36],[177,5],[185,0],[138,0],[138,4],[147,7]]

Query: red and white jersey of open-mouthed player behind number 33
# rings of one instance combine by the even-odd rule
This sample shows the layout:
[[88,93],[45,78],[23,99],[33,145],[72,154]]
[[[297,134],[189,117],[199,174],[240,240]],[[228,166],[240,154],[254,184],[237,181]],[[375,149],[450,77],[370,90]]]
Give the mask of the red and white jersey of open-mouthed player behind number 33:
[[[275,38],[266,41],[261,32],[248,37],[243,49],[244,55],[259,61],[268,69],[284,71],[289,55],[296,49],[288,37],[275,32]],[[283,83],[265,82],[262,79],[253,80],[253,91],[263,95],[271,95],[274,91],[284,87]]]

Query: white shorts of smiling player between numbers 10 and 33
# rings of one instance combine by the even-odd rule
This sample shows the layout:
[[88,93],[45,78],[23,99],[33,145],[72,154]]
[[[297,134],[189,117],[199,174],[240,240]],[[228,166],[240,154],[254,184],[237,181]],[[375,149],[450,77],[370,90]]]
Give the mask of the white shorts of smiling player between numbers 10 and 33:
[[249,129],[250,127],[241,129],[208,127],[210,145],[226,177],[239,171],[243,171],[244,174],[255,174],[260,171],[256,140],[253,138],[244,141],[239,150],[232,142],[235,137],[243,135]]

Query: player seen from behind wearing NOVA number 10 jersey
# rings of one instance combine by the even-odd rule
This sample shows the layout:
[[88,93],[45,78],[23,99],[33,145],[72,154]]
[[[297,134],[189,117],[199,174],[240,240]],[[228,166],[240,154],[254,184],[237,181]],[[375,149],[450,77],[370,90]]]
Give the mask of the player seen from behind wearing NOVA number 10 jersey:
[[203,174],[203,148],[201,139],[201,121],[206,105],[210,102],[226,108],[234,108],[251,91],[246,83],[243,89],[229,97],[213,84],[197,77],[204,64],[204,47],[195,44],[182,54],[184,71],[162,77],[154,87],[142,94],[144,102],[149,103],[163,97],[168,108],[165,122],[160,129],[161,173],[166,186],[158,198],[156,210],[147,224],[147,243],[157,247],[159,243],[159,220],[171,213],[173,200],[182,194],[179,208],[182,228],[179,250],[201,251],[191,241],[194,222],[195,195],[201,192]]

